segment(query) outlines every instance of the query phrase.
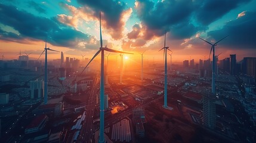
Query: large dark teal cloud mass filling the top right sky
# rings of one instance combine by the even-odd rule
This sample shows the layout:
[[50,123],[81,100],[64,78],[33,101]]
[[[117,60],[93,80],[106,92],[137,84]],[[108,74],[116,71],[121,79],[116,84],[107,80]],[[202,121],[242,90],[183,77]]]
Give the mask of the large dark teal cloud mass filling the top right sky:
[[[169,0],[154,3],[137,0],[135,10],[143,25],[143,35],[147,36],[144,39],[162,36],[165,30],[171,33],[171,38],[184,39],[208,29],[208,24],[249,1],[251,0]],[[132,30],[128,38],[135,37],[135,34]]]

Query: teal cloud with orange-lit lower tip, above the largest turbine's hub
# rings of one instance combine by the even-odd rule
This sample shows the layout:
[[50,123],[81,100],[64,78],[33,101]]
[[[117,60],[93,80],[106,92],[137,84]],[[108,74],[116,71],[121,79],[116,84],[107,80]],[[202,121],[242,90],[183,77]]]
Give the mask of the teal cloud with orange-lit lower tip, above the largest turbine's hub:
[[81,5],[86,5],[95,11],[94,16],[98,18],[100,11],[104,13],[103,19],[106,20],[106,26],[108,29],[115,30],[114,33],[110,33],[112,38],[119,39],[122,34],[122,13],[125,10],[124,2],[118,2],[113,0],[78,0]]

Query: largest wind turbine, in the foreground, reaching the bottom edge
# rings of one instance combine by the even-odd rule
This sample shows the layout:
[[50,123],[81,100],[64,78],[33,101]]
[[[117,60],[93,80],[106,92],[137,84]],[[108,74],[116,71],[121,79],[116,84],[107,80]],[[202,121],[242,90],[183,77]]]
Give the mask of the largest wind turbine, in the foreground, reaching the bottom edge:
[[[103,47],[103,41],[102,41],[102,36],[101,36],[101,14],[100,14],[100,49],[96,52],[96,54],[91,58],[87,66],[91,63],[94,58],[100,54],[101,52],[101,70],[100,70],[100,139],[98,142],[105,142],[106,140],[104,139],[104,51],[109,51],[109,52],[119,52],[119,53],[126,53],[126,54],[132,54],[129,52],[122,52],[122,51],[117,51],[115,49],[109,49],[106,47]],[[85,66],[84,70],[87,68]],[[82,70],[82,72],[84,71]],[[82,74],[81,72],[81,74]],[[80,74],[80,75],[81,75]]]

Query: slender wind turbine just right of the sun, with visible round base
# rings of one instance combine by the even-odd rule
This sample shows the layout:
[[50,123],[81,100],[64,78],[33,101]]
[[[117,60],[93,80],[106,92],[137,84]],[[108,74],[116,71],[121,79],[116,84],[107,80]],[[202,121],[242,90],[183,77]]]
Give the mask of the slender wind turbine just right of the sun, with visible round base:
[[[166,38],[166,32],[165,32],[165,38]],[[167,106],[167,49],[169,51],[171,51],[171,50],[169,49],[169,46],[165,46],[165,44],[164,44],[164,48],[162,48],[162,49],[164,49],[164,58],[165,58],[165,91],[164,91],[165,93],[164,93],[163,107],[171,110],[172,108]],[[161,51],[162,49],[160,49],[159,51]]]

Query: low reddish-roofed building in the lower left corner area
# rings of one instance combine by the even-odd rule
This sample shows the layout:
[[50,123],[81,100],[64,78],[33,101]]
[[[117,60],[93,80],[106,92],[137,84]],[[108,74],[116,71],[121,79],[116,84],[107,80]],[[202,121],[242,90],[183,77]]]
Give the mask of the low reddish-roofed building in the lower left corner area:
[[33,133],[33,132],[38,132],[42,128],[44,128],[45,123],[47,122],[48,117],[47,115],[43,114],[40,116],[37,116],[32,122],[27,126],[25,129],[25,133]]

